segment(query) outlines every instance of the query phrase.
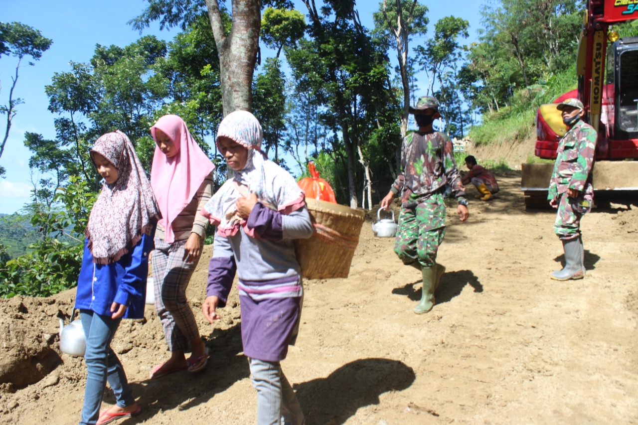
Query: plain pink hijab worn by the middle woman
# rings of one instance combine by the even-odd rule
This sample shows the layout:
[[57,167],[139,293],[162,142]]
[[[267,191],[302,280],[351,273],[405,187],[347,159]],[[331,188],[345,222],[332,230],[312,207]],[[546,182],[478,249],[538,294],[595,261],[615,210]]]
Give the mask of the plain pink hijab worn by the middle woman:
[[151,127],[163,131],[175,144],[177,154],[167,158],[156,145],[151,167],[151,186],[158,200],[162,218],[158,224],[165,230],[165,241],[175,242],[173,220],[188,205],[207,175],[215,166],[188,132],[184,120],[176,115],[165,115]]

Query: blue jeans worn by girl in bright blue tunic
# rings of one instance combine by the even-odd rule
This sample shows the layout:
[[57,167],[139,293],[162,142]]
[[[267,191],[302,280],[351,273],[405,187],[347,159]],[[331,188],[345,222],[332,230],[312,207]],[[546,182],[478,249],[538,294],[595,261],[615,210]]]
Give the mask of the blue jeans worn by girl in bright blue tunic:
[[111,349],[111,340],[121,319],[98,315],[91,310],[80,310],[80,320],[86,336],[87,378],[80,425],[94,425],[100,418],[100,405],[104,389],[110,385],[120,407],[135,404],[133,391],[128,385],[124,368]]

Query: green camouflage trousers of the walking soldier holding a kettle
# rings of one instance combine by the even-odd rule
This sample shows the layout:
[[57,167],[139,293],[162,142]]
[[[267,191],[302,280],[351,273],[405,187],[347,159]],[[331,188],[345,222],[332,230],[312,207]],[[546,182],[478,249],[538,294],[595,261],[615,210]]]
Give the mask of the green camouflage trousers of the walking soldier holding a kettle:
[[403,264],[418,261],[423,267],[433,267],[443,237],[445,204],[443,195],[434,193],[421,204],[401,208],[394,252]]

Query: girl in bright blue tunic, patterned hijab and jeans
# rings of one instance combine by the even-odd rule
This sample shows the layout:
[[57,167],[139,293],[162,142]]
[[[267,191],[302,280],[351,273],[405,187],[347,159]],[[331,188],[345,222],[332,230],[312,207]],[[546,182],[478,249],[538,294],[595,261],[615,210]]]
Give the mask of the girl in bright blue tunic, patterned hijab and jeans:
[[[144,317],[148,255],[160,213],[124,133],[98,138],[91,160],[105,183],[85,230],[75,299],[86,336],[87,380],[80,424],[103,425],[142,411],[110,343],[122,318]],[[107,382],[117,405],[99,414]]]

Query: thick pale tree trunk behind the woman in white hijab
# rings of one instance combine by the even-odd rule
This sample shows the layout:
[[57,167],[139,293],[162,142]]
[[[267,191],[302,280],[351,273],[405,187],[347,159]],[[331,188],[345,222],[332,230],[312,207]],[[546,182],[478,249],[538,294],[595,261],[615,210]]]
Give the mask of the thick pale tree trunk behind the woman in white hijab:
[[253,71],[259,51],[260,0],[232,0],[232,27],[226,35],[217,0],[205,0],[219,56],[224,116],[252,110]]

